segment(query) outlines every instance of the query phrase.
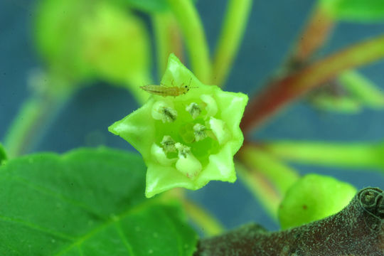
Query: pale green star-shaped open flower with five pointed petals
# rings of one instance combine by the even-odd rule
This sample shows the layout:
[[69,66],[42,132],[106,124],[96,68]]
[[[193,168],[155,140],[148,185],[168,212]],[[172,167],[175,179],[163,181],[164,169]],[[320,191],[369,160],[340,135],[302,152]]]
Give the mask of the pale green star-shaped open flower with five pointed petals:
[[[109,127],[142,154],[146,196],[176,187],[196,190],[211,180],[234,182],[233,155],[243,141],[239,124],[247,95],[203,85],[173,54],[159,90],[164,97],[152,95]],[[167,96],[168,90],[181,93]]]

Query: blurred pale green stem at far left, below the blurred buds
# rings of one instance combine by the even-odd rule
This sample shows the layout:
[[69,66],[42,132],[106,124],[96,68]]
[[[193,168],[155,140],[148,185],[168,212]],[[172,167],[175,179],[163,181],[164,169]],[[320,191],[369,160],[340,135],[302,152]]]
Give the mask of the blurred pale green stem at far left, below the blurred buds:
[[33,96],[23,103],[4,138],[4,147],[9,159],[31,150],[70,95],[72,94],[60,97]]

